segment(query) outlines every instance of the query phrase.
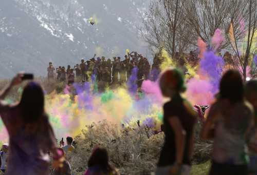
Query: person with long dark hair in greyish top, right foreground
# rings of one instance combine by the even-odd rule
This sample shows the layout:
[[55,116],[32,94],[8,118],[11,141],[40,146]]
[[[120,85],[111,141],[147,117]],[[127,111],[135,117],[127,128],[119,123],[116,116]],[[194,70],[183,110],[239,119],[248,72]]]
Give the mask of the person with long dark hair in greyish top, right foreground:
[[201,129],[202,139],[213,139],[210,175],[247,174],[246,135],[252,126],[253,107],[244,100],[242,76],[237,70],[229,70]]

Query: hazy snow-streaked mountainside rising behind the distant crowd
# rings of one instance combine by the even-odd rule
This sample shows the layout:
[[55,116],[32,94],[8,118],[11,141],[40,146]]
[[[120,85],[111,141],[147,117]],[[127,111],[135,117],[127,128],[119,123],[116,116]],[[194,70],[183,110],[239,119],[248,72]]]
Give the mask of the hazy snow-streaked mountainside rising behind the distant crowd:
[[[46,75],[54,66],[81,57],[145,53],[139,27],[148,0],[2,0],[0,78],[25,70]],[[95,25],[89,23],[94,19]]]

